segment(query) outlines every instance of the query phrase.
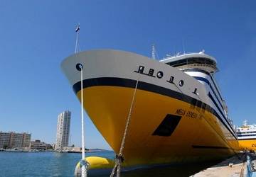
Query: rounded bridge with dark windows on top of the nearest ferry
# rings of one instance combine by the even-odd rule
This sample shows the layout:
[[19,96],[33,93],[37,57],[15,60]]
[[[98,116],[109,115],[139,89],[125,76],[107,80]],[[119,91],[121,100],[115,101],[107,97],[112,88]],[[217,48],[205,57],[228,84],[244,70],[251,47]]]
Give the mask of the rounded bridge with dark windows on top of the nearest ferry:
[[160,60],[160,62],[177,67],[178,69],[202,69],[211,74],[218,72],[216,59],[206,55],[204,52],[166,57]]

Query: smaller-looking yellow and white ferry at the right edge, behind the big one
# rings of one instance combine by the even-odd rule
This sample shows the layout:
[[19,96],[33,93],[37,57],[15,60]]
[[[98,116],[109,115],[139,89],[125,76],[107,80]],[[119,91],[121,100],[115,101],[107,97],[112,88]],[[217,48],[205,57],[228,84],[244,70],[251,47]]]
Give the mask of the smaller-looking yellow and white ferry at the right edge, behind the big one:
[[238,141],[242,150],[256,152],[256,125],[247,125],[245,120],[237,129]]

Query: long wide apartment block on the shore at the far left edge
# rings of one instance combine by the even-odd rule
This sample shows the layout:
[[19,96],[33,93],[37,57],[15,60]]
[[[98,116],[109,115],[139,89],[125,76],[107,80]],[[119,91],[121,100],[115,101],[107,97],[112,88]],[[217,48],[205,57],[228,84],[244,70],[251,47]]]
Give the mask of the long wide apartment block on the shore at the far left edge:
[[0,132],[0,148],[23,148],[29,147],[31,134],[16,132]]

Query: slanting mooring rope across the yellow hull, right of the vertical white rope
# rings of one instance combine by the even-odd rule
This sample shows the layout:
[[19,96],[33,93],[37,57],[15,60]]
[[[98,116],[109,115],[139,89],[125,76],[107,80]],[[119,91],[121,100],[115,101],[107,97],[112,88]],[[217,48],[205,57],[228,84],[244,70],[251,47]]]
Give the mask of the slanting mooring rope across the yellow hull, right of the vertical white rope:
[[128,118],[127,118],[127,123],[125,125],[125,129],[124,129],[124,135],[123,135],[123,138],[122,138],[121,147],[119,149],[119,154],[116,155],[114,168],[112,169],[112,173],[110,174],[110,177],[114,177],[114,175],[116,175],[117,177],[120,176],[121,165],[122,165],[122,162],[124,161],[124,157],[122,156],[122,152],[123,152],[123,149],[124,149],[125,139],[127,137],[129,122],[131,120],[132,109],[133,109],[133,106],[134,106],[134,98],[135,98],[135,95],[136,95],[138,83],[139,83],[139,78],[137,79],[136,86],[135,86],[135,89],[134,89],[134,94],[132,96],[132,103],[131,103],[131,106],[129,108],[129,114],[128,114]]

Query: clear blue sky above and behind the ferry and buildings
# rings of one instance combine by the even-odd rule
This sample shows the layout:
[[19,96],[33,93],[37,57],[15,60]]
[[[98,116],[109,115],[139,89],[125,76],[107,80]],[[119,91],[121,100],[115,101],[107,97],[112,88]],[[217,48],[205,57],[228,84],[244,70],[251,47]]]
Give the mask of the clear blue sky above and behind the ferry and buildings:
[[[80,145],[80,103],[60,70],[75,50],[112,48],[159,58],[206,50],[236,125],[256,123],[255,1],[0,1],[0,130],[55,142],[57,116],[72,111]],[[110,149],[86,117],[86,146]]]

